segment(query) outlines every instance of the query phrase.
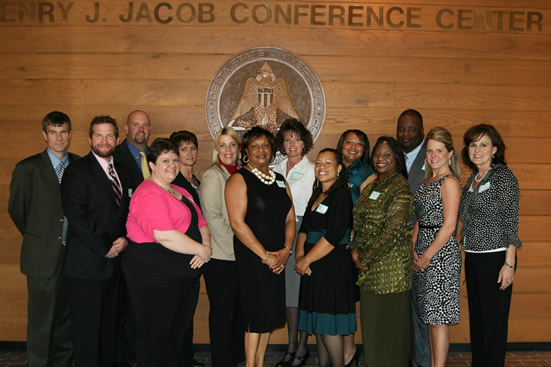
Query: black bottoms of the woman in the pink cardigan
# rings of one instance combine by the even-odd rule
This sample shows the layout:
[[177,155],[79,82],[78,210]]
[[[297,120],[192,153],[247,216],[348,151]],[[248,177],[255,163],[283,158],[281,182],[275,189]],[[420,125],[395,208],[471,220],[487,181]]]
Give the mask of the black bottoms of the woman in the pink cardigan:
[[191,366],[185,346],[197,304],[197,277],[182,279],[155,274],[127,261],[126,257],[123,271],[136,315],[138,365]]

